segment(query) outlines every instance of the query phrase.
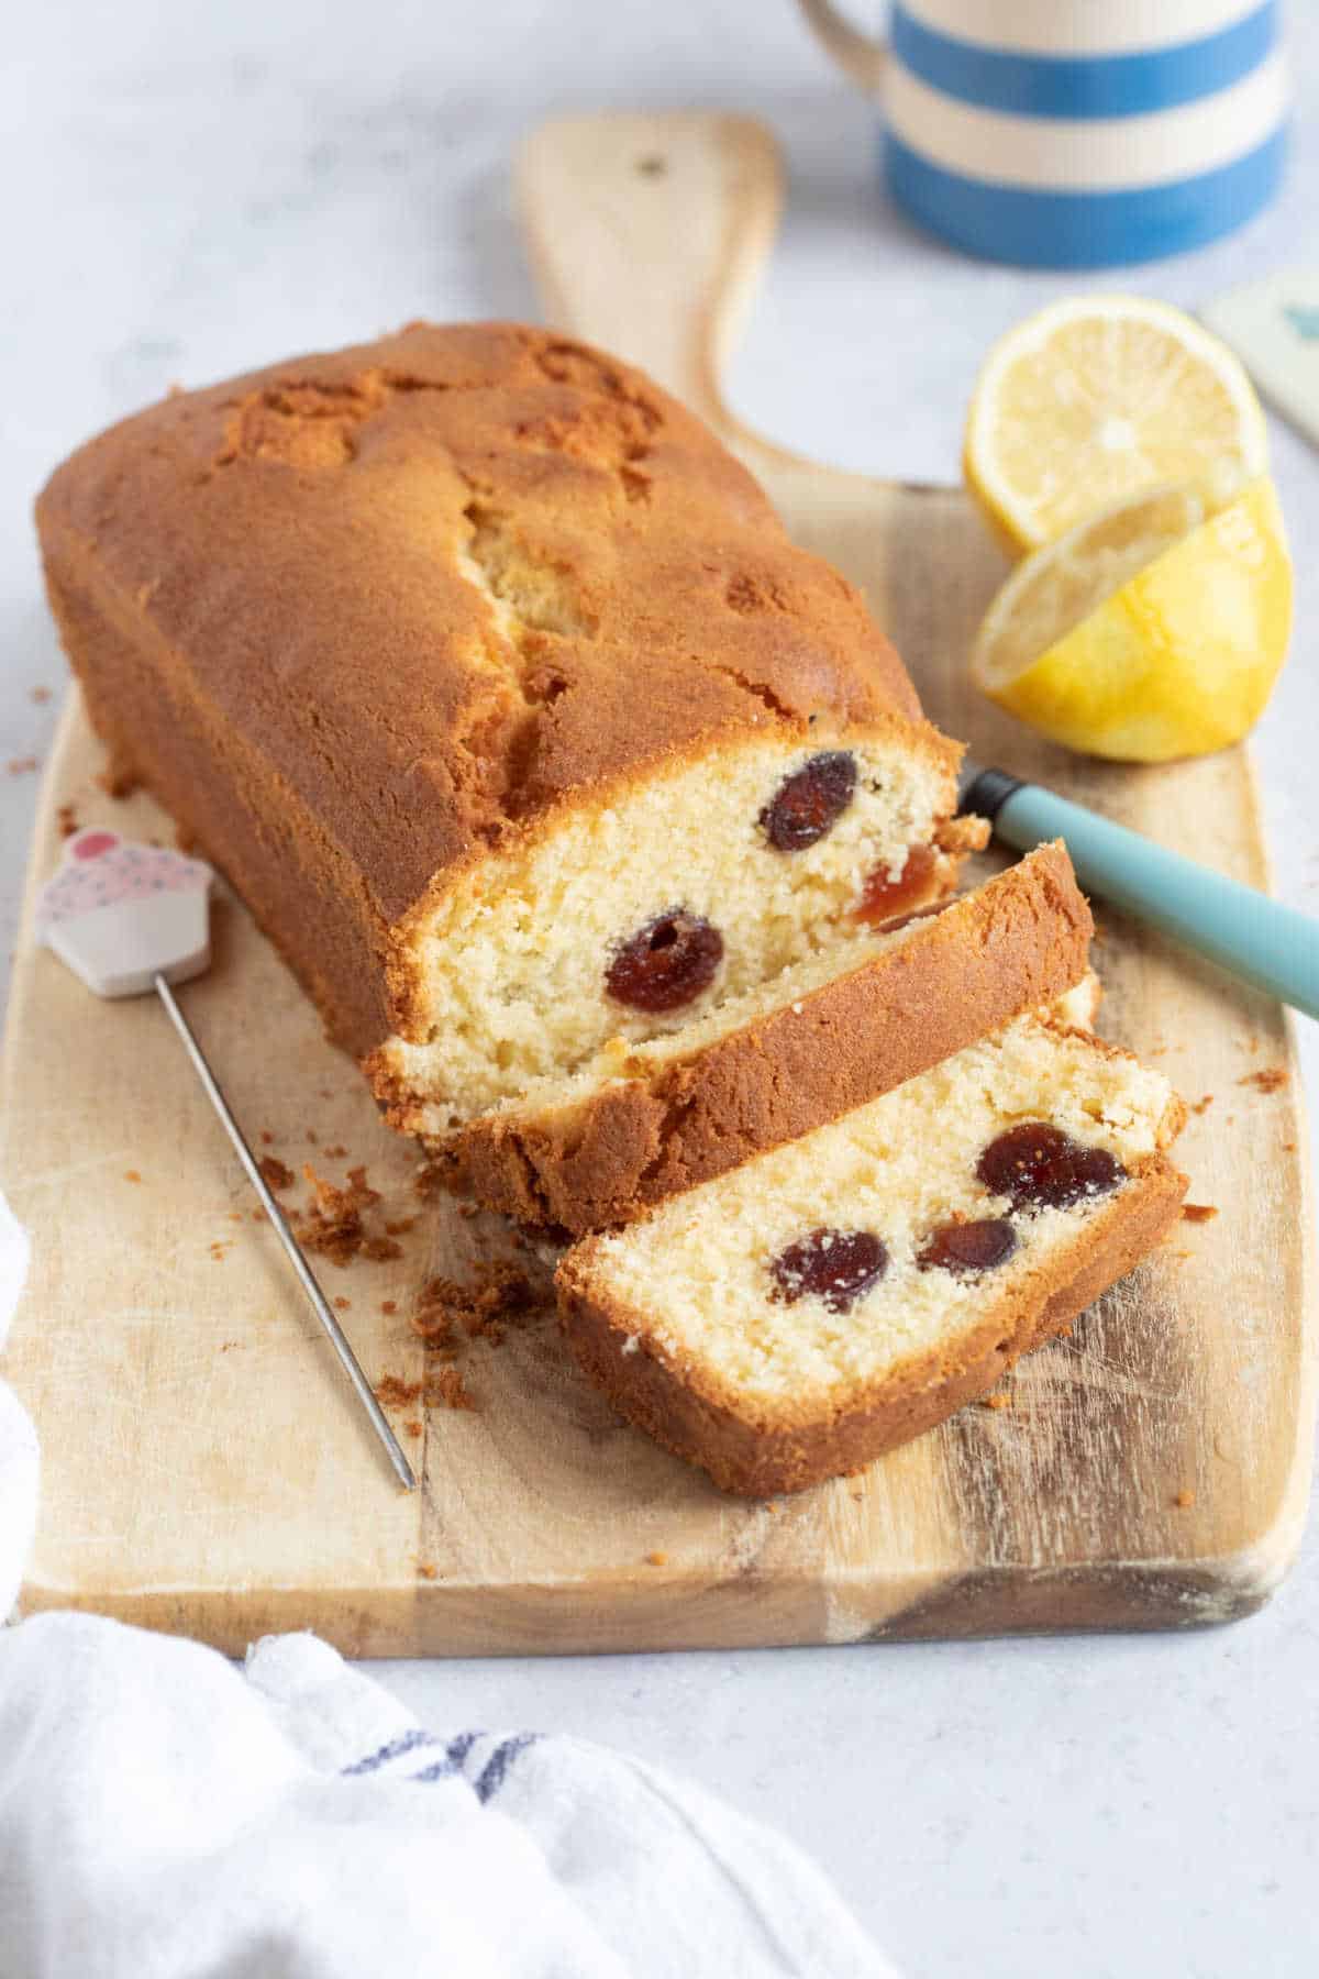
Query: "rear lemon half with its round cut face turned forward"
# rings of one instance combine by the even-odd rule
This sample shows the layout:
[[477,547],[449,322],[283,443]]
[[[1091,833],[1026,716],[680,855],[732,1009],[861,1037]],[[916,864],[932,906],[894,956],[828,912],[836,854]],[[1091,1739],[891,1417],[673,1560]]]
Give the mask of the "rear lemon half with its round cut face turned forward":
[[1018,323],[989,352],[963,445],[967,487],[1012,554],[1173,481],[1268,469],[1250,378],[1167,303],[1088,295]]

